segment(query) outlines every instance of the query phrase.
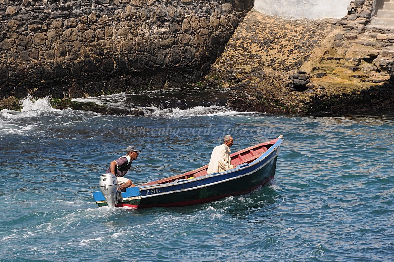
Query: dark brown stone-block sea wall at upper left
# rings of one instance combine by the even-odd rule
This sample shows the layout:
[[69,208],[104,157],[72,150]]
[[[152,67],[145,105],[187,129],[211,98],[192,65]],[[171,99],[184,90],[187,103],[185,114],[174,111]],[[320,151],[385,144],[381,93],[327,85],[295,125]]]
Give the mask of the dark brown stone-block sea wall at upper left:
[[253,0],[0,0],[0,99],[196,82]]

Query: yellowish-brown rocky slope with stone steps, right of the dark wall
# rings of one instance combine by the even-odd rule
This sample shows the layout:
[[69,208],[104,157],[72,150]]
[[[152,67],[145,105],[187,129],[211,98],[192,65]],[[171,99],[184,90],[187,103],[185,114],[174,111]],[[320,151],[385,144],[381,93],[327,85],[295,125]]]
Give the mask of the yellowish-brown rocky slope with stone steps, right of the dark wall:
[[394,32],[368,28],[372,0],[342,19],[287,20],[250,11],[209,82],[240,110],[312,114],[394,107]]

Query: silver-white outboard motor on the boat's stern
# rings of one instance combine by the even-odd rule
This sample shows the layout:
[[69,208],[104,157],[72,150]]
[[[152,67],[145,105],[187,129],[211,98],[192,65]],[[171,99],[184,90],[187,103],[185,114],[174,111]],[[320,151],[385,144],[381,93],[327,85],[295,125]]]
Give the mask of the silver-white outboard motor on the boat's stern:
[[115,207],[118,202],[123,201],[116,176],[111,173],[100,175],[100,190],[109,207]]

